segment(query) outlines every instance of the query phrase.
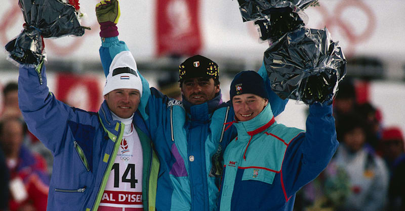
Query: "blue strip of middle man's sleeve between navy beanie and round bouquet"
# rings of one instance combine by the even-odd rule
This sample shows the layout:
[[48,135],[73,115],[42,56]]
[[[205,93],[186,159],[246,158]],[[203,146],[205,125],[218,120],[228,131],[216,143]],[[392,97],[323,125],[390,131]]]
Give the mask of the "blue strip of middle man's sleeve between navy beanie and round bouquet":
[[259,75],[262,76],[264,83],[266,85],[266,90],[269,95],[268,99],[270,102],[271,111],[273,112],[274,117],[281,114],[286,108],[286,104],[288,99],[281,99],[272,89],[270,86],[270,80],[267,76],[266,67],[264,66],[264,62],[258,71]]

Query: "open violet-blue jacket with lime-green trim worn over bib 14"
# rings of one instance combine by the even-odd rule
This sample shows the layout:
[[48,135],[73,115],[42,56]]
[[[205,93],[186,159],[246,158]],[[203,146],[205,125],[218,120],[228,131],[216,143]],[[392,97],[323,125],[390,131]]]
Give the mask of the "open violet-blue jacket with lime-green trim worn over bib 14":
[[[23,65],[19,107],[31,131],[54,155],[47,210],[97,210],[124,134],[104,101],[98,113],[69,107],[47,87],[45,66]],[[134,125],[143,150],[142,201],[155,210],[159,163],[139,114]]]

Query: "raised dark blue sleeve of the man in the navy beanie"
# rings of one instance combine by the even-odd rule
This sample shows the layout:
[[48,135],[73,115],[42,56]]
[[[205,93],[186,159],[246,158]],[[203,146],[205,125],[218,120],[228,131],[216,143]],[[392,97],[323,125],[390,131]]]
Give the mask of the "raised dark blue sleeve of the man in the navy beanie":
[[282,162],[286,200],[328,166],[339,145],[332,105],[310,105],[306,129],[291,140]]

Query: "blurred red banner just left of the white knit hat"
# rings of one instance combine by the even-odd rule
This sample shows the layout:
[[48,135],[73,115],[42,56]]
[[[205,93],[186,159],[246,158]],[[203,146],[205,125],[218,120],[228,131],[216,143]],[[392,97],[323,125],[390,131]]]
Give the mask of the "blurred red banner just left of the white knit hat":
[[58,74],[56,97],[78,109],[97,112],[102,92],[96,77],[75,74]]

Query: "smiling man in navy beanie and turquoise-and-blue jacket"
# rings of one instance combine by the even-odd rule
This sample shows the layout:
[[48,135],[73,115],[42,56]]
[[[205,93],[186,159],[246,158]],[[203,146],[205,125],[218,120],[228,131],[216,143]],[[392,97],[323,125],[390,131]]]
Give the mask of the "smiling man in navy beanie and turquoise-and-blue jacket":
[[230,87],[237,137],[224,153],[219,210],[293,210],[295,193],[338,147],[332,105],[309,106],[307,131],[274,121],[262,77],[238,73]]

